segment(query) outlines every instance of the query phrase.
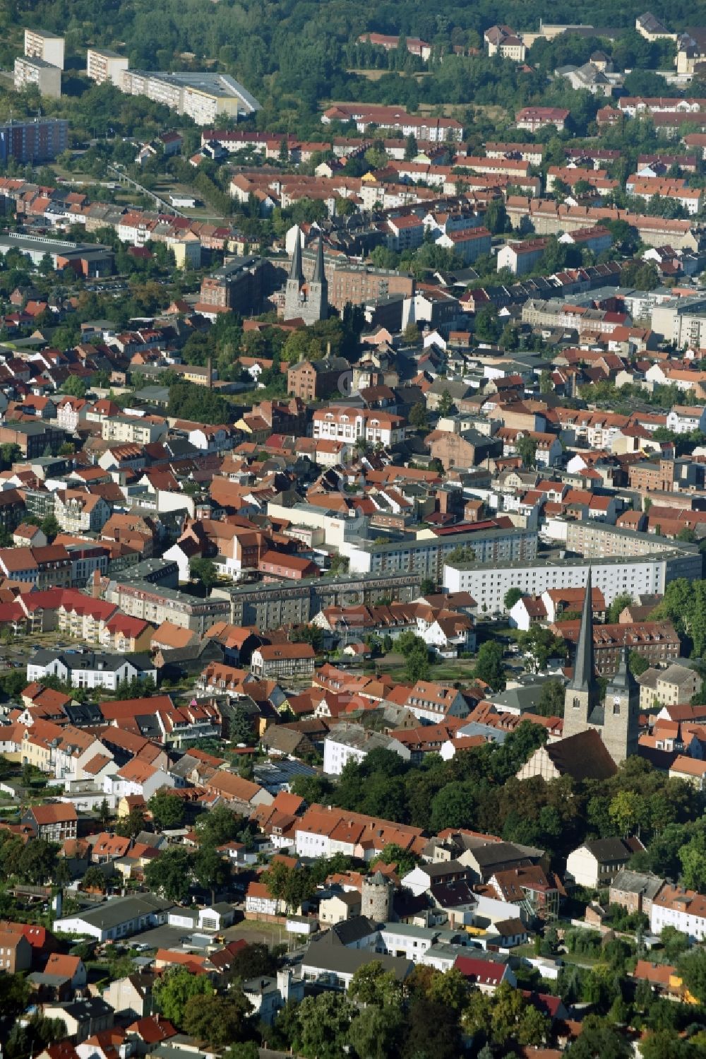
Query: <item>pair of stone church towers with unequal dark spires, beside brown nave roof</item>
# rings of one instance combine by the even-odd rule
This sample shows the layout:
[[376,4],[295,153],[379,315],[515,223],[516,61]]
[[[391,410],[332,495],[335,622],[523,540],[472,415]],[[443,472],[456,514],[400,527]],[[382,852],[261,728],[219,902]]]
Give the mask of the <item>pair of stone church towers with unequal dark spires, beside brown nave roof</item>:
[[628,648],[601,701],[594,672],[593,606],[591,568],[583,597],[581,628],[576,646],[574,676],[564,696],[563,738],[595,729],[613,760],[618,765],[637,753],[639,685],[628,665]]

